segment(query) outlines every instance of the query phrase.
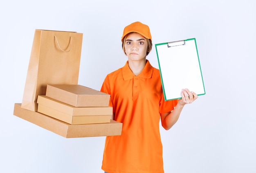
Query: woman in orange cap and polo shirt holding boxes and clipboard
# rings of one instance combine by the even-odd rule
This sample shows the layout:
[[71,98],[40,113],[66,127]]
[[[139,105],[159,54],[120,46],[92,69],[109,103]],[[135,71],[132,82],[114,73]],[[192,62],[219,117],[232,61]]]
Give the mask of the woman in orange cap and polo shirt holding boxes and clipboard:
[[164,173],[161,118],[164,129],[178,120],[182,108],[198,98],[182,89],[182,99],[164,101],[159,70],[146,56],[152,48],[150,29],[141,22],[124,28],[125,66],[107,75],[101,92],[110,94],[113,119],[123,123],[121,136],[107,136],[102,169],[107,173]]

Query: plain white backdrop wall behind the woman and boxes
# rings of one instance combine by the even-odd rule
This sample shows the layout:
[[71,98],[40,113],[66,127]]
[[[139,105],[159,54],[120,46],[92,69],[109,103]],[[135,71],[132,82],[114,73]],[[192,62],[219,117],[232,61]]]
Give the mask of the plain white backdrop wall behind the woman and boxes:
[[[100,90],[124,66],[124,26],[148,24],[153,44],[195,37],[206,94],[162,127],[166,173],[256,172],[254,0],[2,0],[0,172],[102,173],[105,137],[63,138],[13,116],[35,29],[83,33],[79,84]],[[155,48],[148,55],[158,67]],[[181,69],[182,70],[182,67]]]

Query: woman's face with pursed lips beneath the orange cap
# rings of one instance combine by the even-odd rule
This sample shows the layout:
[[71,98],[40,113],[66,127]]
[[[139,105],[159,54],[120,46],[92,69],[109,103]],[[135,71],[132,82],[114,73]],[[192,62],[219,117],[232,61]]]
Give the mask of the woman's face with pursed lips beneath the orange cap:
[[148,42],[139,33],[130,33],[125,41],[125,53],[129,60],[139,61],[146,59]]

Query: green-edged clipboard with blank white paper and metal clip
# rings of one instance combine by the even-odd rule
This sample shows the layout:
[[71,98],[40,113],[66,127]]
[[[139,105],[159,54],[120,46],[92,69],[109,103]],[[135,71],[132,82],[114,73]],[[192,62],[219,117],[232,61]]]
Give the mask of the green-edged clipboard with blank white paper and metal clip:
[[185,88],[205,94],[195,38],[155,44],[155,49],[165,101],[180,99]]

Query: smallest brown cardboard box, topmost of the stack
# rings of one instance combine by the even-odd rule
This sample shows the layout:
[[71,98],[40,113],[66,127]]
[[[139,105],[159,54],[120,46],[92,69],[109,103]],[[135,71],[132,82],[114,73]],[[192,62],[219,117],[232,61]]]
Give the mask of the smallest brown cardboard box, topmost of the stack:
[[82,85],[47,85],[47,97],[74,107],[108,107],[110,95]]

